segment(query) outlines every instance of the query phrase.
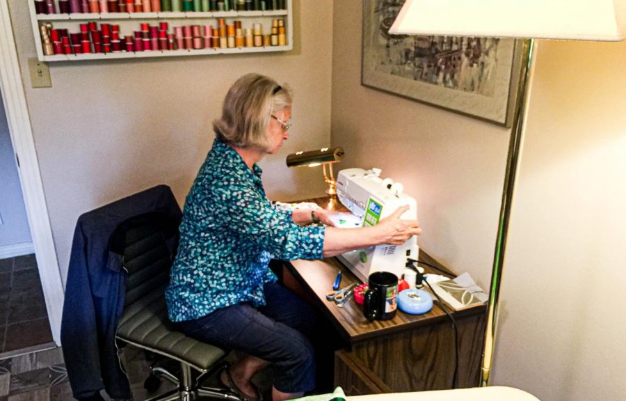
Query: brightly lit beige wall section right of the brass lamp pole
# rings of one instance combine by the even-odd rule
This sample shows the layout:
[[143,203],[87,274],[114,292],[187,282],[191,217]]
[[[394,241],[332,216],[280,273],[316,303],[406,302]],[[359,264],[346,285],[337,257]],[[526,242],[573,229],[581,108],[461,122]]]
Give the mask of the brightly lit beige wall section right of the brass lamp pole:
[[540,42],[495,384],[626,397],[626,42]]

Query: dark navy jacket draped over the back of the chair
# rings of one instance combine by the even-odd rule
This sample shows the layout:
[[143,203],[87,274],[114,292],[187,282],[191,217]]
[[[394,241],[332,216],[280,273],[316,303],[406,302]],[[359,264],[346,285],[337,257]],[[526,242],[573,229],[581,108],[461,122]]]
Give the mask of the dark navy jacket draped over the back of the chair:
[[170,187],[159,185],[79,217],[65,285],[61,342],[74,398],[93,397],[102,388],[111,398],[130,398],[115,347],[115,329],[125,302],[122,258],[109,251],[120,223],[148,212],[180,221]]

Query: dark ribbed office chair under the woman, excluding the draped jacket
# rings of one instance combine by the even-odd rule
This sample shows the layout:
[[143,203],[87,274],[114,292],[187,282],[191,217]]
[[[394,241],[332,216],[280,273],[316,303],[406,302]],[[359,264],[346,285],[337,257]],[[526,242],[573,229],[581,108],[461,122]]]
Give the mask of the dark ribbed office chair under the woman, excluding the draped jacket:
[[109,249],[122,255],[126,272],[125,306],[115,339],[179,363],[178,374],[160,366],[151,367],[152,375],[178,388],[147,401],[190,401],[198,396],[241,401],[228,390],[201,386],[223,366],[225,352],[185,336],[168,319],[164,291],[178,235],[177,223],[160,212],[131,217],[115,230]]

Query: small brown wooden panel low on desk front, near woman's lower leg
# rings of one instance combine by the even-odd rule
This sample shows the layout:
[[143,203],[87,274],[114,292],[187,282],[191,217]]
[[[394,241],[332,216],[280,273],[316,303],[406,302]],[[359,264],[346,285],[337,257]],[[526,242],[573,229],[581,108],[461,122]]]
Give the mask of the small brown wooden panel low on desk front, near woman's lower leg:
[[346,395],[392,393],[356,356],[343,350],[335,352],[335,386]]

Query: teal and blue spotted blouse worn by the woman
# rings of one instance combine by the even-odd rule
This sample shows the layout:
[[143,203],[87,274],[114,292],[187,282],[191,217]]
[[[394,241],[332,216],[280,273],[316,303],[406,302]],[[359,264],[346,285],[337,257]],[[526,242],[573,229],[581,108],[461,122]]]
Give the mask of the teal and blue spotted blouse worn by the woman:
[[261,168],[252,171],[216,139],[186,198],[166,290],[170,320],[198,319],[240,302],[264,305],[263,285],[277,279],[270,258],[319,259],[324,233],[298,226],[290,210],[272,205]]

